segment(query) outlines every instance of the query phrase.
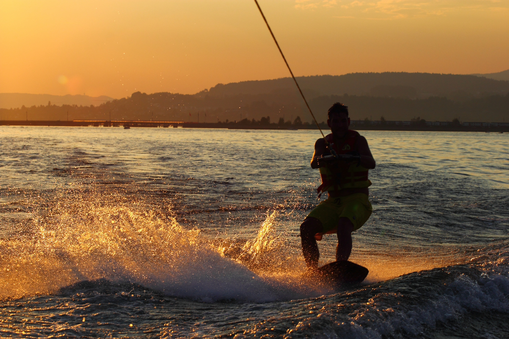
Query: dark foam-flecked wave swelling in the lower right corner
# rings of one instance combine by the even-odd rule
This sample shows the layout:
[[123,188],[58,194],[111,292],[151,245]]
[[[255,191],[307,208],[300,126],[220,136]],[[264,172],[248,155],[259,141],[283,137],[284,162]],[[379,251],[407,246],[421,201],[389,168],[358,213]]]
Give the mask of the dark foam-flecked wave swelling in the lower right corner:
[[[299,319],[288,330],[289,337],[435,337],[479,315],[498,322],[498,314],[509,312],[509,275],[506,265],[455,265],[409,273],[320,301],[327,306]],[[479,332],[483,327],[485,333],[497,332],[490,326],[493,319]]]

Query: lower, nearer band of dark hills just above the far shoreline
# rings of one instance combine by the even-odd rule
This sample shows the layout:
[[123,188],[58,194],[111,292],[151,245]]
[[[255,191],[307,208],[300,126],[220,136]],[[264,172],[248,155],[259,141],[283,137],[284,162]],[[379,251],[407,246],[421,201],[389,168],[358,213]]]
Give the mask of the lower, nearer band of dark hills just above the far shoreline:
[[[301,100],[301,99],[300,99]],[[336,101],[349,106],[352,119],[410,120],[419,116],[427,121],[502,122],[509,121],[509,94],[474,98],[464,102],[444,97],[426,99],[381,98],[373,96],[320,96],[309,101],[318,122],[327,120],[327,109]],[[179,120],[179,121],[240,121],[260,120],[302,121],[312,118],[298,97],[287,95],[235,95],[224,98],[172,93],[145,94],[136,92],[129,98],[114,100],[100,106],[46,105],[23,109],[0,109],[3,120]]]

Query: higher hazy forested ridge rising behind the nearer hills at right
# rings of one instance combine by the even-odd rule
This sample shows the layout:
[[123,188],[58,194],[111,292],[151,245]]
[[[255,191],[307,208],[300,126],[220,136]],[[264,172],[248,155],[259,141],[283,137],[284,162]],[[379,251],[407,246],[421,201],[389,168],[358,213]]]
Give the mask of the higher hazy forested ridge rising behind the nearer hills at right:
[[[298,77],[301,88],[310,99],[323,95],[357,95],[393,98],[447,97],[468,100],[489,95],[505,95],[509,82],[474,75],[431,73],[349,73],[345,75],[317,75]],[[255,80],[217,84],[197,95],[215,97],[239,94],[269,94],[295,91],[291,78]]]

